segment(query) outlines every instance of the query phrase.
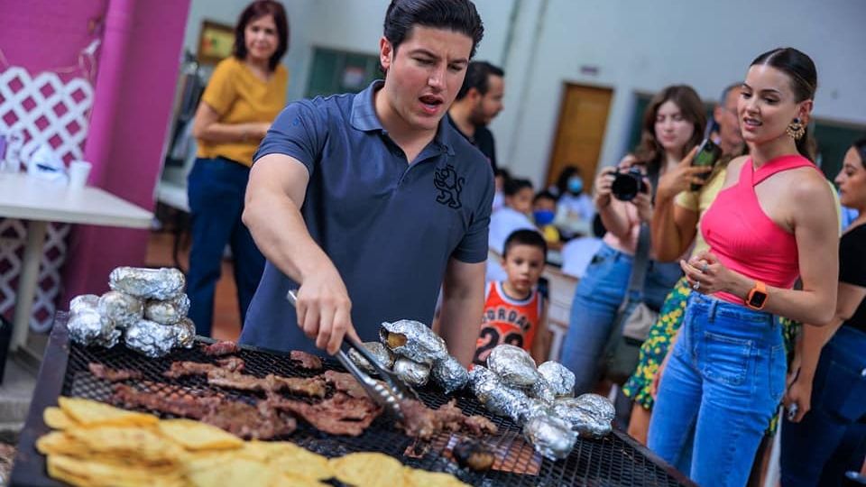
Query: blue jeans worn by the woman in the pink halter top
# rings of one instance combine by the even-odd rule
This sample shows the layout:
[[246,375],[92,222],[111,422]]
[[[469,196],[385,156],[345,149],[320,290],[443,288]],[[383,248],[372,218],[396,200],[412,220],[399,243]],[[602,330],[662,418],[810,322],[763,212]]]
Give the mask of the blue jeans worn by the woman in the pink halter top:
[[659,384],[649,446],[699,485],[742,487],[788,370],[781,326],[769,313],[692,293]]

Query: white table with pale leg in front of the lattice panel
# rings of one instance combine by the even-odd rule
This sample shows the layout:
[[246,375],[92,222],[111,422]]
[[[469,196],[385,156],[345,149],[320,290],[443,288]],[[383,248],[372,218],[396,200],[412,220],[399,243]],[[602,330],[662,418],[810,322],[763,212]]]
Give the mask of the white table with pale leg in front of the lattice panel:
[[102,189],[70,189],[25,173],[0,173],[0,216],[27,222],[27,244],[12,323],[12,350],[27,340],[49,222],[148,228],[153,218],[151,212]]

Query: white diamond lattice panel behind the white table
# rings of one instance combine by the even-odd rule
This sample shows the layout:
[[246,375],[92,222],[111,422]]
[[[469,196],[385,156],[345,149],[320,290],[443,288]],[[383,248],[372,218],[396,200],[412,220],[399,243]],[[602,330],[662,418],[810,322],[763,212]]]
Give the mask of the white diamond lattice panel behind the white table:
[[[14,130],[23,133],[23,161],[43,143],[50,145],[63,161],[82,159],[91,106],[93,87],[85,78],[63,82],[51,72],[32,78],[18,66],[0,72],[0,133]],[[25,227],[19,220],[0,219],[0,314],[6,316],[14,308],[26,243]],[[69,225],[48,227],[31,316],[34,329],[46,330],[51,326],[68,235]]]

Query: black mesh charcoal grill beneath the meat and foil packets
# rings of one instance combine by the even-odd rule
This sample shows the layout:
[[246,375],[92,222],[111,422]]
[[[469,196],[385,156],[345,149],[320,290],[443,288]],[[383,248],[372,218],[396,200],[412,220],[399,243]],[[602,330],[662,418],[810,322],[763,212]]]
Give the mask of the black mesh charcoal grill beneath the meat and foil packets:
[[[109,402],[111,385],[94,377],[88,371],[88,363],[102,363],[116,369],[138,370],[142,372],[143,379],[126,381],[126,383],[142,390],[176,392],[180,389],[182,393],[190,395],[218,391],[231,400],[252,403],[257,399],[253,392],[231,391],[210,386],[203,377],[171,380],[161,375],[161,372],[167,370],[170,363],[176,360],[213,362],[213,357],[202,354],[198,346],[202,343],[210,343],[209,340],[198,339],[197,345],[192,349],[177,350],[161,359],[149,359],[126,349],[123,345],[105,349],[71,343],[66,320],[67,316],[63,313],[59,313],[55,319],[30,412],[21,434],[19,452],[11,478],[13,485],[62,485],[47,476],[45,458],[36,452],[34,445],[39,436],[49,431],[42,421],[42,410],[56,405],[58,396],[83,397]],[[259,377],[267,373],[287,377],[305,377],[318,373],[299,368],[284,354],[263,349],[244,347],[239,355],[246,363],[244,373]],[[324,363],[326,369],[343,372],[336,361],[324,361]],[[419,389],[419,395],[421,400],[431,408],[438,408],[449,399],[433,387]],[[450,460],[448,445],[453,444],[454,441],[447,433],[434,438],[431,447],[423,455],[419,457],[404,455],[411,449],[412,440],[395,428],[392,421],[385,416],[377,418],[363,435],[355,437],[328,435],[299,419],[298,429],[291,435],[279,439],[292,441],[329,457],[361,451],[382,452],[415,468],[452,473],[461,481],[472,485],[546,487],[694,485],[684,475],[620,431],[614,431],[612,435],[602,440],[578,439],[571,455],[565,460],[554,462],[534,453],[532,446],[522,439],[520,427],[507,418],[491,415],[470,395],[457,396],[457,405],[466,414],[480,414],[491,418],[499,427],[500,432],[497,436],[485,439],[485,443],[497,451],[507,452],[507,460],[504,462],[499,460],[494,464],[494,468],[499,470],[474,473],[457,467]],[[140,410],[146,411],[146,409]],[[170,418],[170,415],[166,414],[160,416]],[[452,441],[449,442],[449,438]],[[339,483],[334,484],[339,485]]]

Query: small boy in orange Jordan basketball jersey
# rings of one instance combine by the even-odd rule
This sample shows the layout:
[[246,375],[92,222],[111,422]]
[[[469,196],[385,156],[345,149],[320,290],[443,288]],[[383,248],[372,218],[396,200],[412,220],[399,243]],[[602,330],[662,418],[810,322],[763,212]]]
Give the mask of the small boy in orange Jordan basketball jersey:
[[502,265],[508,278],[487,283],[481,334],[473,363],[486,365],[496,345],[528,351],[536,363],[547,360],[548,305],[537,287],[548,245],[535,230],[518,230],[505,241]]

